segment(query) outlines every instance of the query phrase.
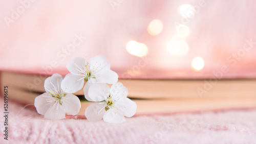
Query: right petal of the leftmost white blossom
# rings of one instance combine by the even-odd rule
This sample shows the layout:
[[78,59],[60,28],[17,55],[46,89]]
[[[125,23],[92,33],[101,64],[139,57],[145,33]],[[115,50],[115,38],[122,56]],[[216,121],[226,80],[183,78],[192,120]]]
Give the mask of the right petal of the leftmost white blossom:
[[64,98],[62,98],[62,104],[66,113],[71,115],[76,115],[80,108],[81,103],[76,95],[68,93]]

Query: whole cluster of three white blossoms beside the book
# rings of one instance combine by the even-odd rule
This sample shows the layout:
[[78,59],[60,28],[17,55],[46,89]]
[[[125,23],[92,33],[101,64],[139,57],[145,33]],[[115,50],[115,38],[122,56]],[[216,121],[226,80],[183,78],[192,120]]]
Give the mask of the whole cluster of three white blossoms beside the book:
[[104,56],[95,56],[89,62],[84,58],[75,58],[67,64],[67,68],[70,74],[63,80],[59,74],[45,80],[46,92],[36,97],[34,103],[39,114],[49,119],[65,118],[66,113],[76,115],[81,104],[72,93],[82,88],[84,97],[95,102],[86,109],[88,121],[103,118],[108,123],[123,123],[124,116],[135,114],[136,103],[127,98],[127,88],[117,82],[118,75],[110,69],[110,62]]

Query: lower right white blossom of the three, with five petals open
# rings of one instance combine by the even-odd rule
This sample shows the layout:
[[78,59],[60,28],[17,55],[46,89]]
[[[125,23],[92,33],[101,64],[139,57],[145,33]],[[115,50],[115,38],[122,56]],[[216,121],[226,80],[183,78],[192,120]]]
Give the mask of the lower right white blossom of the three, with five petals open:
[[124,116],[132,117],[137,109],[135,102],[127,98],[128,90],[122,83],[115,83],[111,88],[105,83],[94,83],[89,89],[93,103],[86,109],[88,121],[123,123]]

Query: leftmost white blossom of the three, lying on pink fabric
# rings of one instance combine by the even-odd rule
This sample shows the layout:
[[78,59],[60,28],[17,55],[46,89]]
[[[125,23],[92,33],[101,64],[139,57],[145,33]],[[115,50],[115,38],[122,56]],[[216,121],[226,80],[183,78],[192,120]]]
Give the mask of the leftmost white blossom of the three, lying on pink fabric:
[[45,80],[46,92],[35,98],[35,107],[39,114],[49,119],[65,118],[66,113],[76,115],[81,108],[76,95],[63,92],[60,88],[62,77],[53,74]]

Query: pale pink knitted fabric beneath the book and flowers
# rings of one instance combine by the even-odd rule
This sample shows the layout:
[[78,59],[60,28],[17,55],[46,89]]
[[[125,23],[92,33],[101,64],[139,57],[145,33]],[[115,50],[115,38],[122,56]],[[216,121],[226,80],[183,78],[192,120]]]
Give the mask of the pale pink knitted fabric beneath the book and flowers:
[[52,121],[33,109],[9,105],[9,140],[3,139],[1,116],[1,143],[256,143],[256,109],[140,115],[114,125],[87,119]]

